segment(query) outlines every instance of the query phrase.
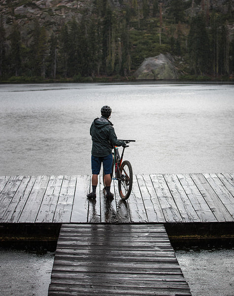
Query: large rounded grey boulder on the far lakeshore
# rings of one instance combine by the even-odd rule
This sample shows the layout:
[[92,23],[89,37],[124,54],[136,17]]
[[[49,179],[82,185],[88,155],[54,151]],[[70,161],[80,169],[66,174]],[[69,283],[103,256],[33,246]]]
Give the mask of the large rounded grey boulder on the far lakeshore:
[[170,54],[146,58],[134,73],[137,80],[174,80],[179,74]]

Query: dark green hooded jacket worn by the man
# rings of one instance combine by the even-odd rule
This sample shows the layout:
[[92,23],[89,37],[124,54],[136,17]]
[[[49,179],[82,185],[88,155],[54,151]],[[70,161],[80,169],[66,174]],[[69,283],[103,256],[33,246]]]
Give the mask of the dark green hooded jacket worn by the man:
[[122,146],[124,144],[124,142],[117,139],[113,124],[103,116],[94,119],[90,127],[90,135],[93,141],[93,156],[107,156],[111,153],[113,146]]

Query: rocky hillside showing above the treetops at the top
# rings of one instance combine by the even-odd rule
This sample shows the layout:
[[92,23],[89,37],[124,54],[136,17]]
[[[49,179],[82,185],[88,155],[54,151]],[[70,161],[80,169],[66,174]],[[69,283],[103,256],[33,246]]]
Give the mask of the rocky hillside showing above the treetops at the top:
[[[201,10],[202,0],[193,0],[194,4],[192,0],[184,1],[188,3],[185,5],[186,14],[196,14]],[[92,13],[94,2],[95,0],[0,0],[0,15],[3,18],[6,32],[9,32],[14,20],[17,20],[23,34],[27,34],[33,28],[34,20],[46,26],[49,31],[56,31],[71,19],[79,22],[84,13]],[[121,11],[126,2],[134,1],[109,0],[109,2],[113,9]],[[158,2],[163,3],[165,14],[170,8],[171,1],[160,0]],[[203,2],[206,5],[208,1]],[[209,10],[226,14],[229,6],[233,5],[232,2],[232,0],[209,0]]]

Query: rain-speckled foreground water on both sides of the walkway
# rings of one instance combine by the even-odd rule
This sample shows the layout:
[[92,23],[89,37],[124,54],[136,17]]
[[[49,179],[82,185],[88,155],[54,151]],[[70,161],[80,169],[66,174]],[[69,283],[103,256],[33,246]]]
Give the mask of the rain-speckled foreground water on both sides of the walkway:
[[[234,295],[234,248],[175,248],[192,296]],[[54,252],[0,248],[1,296],[47,296]]]

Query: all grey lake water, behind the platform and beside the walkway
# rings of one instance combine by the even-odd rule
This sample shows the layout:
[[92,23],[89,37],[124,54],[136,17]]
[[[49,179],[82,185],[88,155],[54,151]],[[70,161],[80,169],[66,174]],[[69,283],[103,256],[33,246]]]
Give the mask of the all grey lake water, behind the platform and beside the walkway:
[[[134,173],[234,171],[234,85],[0,85],[0,175],[90,174],[103,105]],[[234,250],[176,252],[193,296],[233,296]],[[53,254],[0,251],[3,296],[46,296]],[[21,272],[24,270],[24,272]]]

